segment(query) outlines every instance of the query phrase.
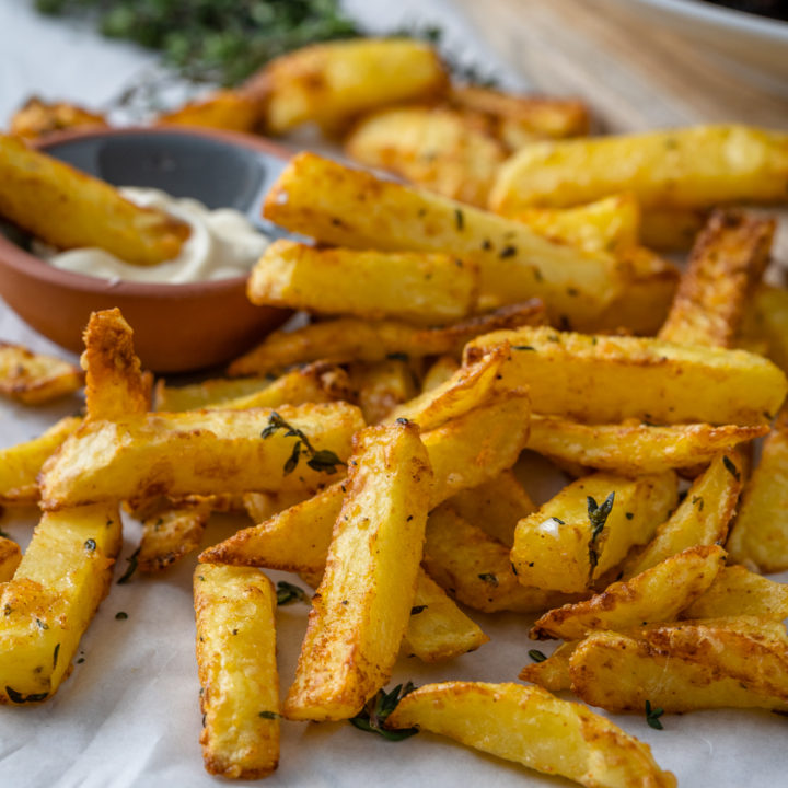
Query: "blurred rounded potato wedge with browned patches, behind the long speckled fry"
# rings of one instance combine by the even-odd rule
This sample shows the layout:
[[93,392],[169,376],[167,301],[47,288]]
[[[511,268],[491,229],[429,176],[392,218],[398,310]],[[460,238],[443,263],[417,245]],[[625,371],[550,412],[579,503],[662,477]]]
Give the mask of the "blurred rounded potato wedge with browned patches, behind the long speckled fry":
[[387,170],[437,194],[487,205],[507,157],[487,129],[445,107],[386,107],[362,118],[345,139],[350,159]]

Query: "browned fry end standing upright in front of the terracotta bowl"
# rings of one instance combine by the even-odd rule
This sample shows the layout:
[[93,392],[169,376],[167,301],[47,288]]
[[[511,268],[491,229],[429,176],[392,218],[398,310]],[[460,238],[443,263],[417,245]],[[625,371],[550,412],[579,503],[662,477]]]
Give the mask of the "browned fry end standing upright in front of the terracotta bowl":
[[86,418],[116,421],[148,412],[151,379],[142,374],[134,332],[120,310],[93,312],[83,339]]

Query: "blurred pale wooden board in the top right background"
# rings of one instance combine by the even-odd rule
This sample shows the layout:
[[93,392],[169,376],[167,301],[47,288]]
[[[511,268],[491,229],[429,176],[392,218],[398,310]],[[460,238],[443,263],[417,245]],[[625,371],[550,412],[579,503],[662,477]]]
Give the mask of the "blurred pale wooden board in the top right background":
[[606,0],[455,0],[545,93],[579,95],[610,130],[743,121],[788,129],[788,100]]

